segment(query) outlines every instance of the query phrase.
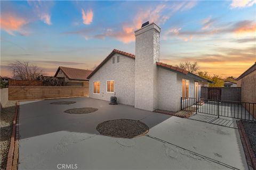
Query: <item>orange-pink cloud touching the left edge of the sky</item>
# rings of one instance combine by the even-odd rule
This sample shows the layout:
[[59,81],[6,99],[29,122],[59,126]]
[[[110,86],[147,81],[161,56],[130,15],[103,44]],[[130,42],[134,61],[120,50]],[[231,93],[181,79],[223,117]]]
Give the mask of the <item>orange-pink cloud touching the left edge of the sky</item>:
[[27,21],[23,18],[7,14],[1,16],[0,23],[1,29],[4,29],[11,35],[14,35],[12,31],[19,31],[21,27],[27,23]]

